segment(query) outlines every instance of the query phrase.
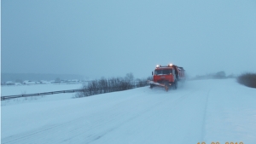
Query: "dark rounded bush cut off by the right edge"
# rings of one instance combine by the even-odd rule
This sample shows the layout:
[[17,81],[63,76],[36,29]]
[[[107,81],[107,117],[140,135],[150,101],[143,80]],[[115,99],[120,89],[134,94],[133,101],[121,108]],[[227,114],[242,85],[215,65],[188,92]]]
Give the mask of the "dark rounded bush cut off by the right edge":
[[247,87],[256,88],[256,73],[244,73],[237,77],[237,82]]

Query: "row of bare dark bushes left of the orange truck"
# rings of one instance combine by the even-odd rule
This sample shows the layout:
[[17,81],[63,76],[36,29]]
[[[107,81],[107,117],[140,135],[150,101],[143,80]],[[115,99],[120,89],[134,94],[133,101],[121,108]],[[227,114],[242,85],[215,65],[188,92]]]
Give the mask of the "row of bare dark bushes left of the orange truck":
[[88,84],[83,84],[83,91],[78,92],[75,97],[85,97],[143,87],[148,85],[147,80],[149,79],[152,78],[134,79],[132,73],[127,73],[125,78],[100,78],[90,81]]

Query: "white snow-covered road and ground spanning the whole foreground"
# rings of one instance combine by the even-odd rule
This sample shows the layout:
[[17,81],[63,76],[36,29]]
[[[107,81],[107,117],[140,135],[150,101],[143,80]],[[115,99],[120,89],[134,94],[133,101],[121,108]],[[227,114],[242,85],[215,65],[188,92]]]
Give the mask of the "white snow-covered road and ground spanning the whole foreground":
[[235,79],[188,81],[169,92],[143,87],[54,97],[2,105],[2,143],[256,143],[256,89]]

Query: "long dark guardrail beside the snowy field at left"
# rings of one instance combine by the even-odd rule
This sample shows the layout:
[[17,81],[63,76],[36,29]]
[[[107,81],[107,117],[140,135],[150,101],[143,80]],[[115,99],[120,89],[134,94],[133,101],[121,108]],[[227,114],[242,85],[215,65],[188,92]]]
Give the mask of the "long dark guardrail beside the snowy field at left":
[[6,96],[1,96],[1,101],[20,98],[20,97],[39,96],[39,95],[54,95],[54,94],[61,94],[61,93],[75,93],[75,92],[79,92],[79,91],[84,91],[84,89],[71,89],[71,90],[51,91],[51,92],[24,94],[24,95],[6,95]]

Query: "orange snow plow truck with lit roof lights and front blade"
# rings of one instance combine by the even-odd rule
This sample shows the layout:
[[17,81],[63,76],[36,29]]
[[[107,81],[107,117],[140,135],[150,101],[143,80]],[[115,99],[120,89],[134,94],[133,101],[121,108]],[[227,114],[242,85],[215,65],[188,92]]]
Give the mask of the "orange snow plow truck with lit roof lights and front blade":
[[185,70],[183,67],[169,64],[168,66],[157,65],[152,72],[153,81],[148,81],[150,88],[154,86],[164,87],[168,89],[177,89],[177,82],[185,80]]

